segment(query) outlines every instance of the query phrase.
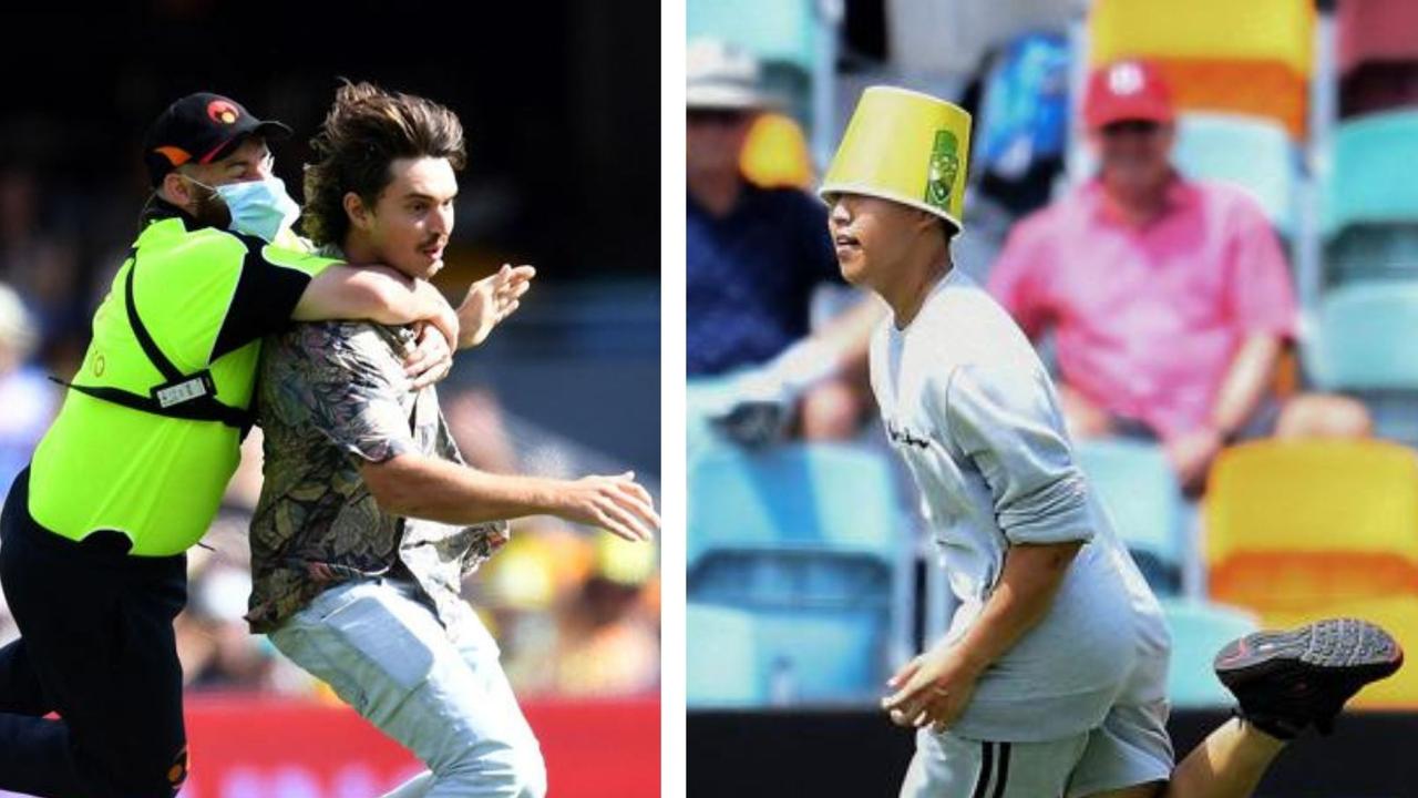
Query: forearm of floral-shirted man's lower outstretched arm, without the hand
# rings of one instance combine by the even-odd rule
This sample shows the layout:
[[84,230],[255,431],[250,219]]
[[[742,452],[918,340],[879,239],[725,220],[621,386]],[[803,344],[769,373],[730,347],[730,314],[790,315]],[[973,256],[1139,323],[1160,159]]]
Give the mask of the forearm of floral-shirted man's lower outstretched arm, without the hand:
[[380,507],[396,515],[481,524],[564,511],[563,480],[492,474],[423,454],[400,454],[363,471]]

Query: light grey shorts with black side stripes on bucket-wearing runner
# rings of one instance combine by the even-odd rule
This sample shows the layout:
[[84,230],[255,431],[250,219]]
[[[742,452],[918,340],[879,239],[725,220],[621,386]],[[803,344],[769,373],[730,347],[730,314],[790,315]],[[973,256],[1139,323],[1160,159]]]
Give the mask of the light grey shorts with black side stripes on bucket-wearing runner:
[[1098,728],[1044,743],[916,733],[902,798],[1085,798],[1171,777],[1167,704],[1119,704]]

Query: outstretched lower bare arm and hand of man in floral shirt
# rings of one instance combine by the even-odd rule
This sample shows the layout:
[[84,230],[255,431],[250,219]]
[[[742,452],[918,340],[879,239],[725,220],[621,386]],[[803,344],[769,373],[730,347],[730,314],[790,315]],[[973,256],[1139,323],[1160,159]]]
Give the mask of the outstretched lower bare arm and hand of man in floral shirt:
[[553,480],[491,474],[424,454],[398,454],[364,463],[362,476],[379,505],[394,515],[445,524],[556,515],[625,540],[649,540],[659,527],[649,493],[630,473]]

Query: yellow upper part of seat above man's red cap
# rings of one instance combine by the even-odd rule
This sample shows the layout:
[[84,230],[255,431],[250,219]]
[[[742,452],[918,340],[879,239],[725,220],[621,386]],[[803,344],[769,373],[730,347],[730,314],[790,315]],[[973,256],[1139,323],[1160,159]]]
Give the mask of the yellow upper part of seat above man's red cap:
[[1312,0],[1096,0],[1089,61],[1276,61],[1309,77]]

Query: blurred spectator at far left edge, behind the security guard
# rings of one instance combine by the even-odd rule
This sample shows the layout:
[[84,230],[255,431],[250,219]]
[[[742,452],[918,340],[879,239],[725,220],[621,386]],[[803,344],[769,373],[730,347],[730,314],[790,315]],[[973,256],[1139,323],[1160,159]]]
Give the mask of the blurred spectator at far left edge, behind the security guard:
[[24,470],[58,409],[58,392],[43,371],[27,365],[40,342],[20,295],[0,283],[0,501]]

